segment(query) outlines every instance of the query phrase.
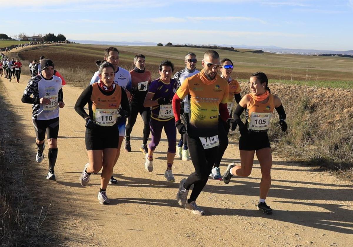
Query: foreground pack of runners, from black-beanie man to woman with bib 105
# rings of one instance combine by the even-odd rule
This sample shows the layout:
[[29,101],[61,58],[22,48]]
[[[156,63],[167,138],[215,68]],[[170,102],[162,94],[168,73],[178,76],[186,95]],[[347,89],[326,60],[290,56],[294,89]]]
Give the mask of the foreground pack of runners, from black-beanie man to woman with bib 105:
[[[85,145],[89,160],[79,177],[81,185],[87,186],[90,176],[102,170],[97,199],[100,204],[110,202],[106,189],[109,183],[117,182],[112,174],[122,141],[125,137],[125,150],[130,152],[130,134],[140,114],[144,122],[140,151],[145,154],[145,169],[153,171],[153,153],[164,129],[168,140],[164,177],[167,181],[175,181],[172,172],[175,155],[184,161],[191,159],[195,172],[180,181],[177,201],[186,210],[204,215],[196,199],[210,176],[222,180],[220,162],[228,146],[228,133],[239,126],[241,165],[229,164],[223,174],[223,181],[228,184],[233,175],[249,176],[256,153],[262,173],[258,209],[271,213],[265,199],[271,184],[272,164],[267,131],[274,109],[279,114],[283,132],[287,124],[280,99],[270,94],[267,76],[262,72],[252,74],[249,80],[251,93],[241,97],[239,83],[231,78],[233,62],[227,58],[220,60],[214,50],[204,54],[201,71],[196,70],[197,58],[194,53],[186,54],[186,67],[174,76],[173,63],[163,60],[158,69],[160,77],[153,81],[151,73],[145,70],[144,55],[137,54],[134,57],[135,66],[130,72],[119,67],[119,56],[119,51],[114,47],[105,50],[103,60],[96,62],[98,71],[74,107],[85,120]],[[22,101],[33,104],[37,162],[44,158],[44,137],[47,132],[47,179],[55,180],[59,108],[65,106],[62,95],[65,83],[55,76],[54,63],[49,59],[41,60],[38,73],[30,79]],[[234,111],[233,98],[238,103]],[[84,109],[87,104],[88,113]],[[240,119],[244,110],[245,123]],[[180,134],[178,143],[177,131]],[[151,141],[147,145],[149,135]],[[188,198],[192,185],[194,187]]]

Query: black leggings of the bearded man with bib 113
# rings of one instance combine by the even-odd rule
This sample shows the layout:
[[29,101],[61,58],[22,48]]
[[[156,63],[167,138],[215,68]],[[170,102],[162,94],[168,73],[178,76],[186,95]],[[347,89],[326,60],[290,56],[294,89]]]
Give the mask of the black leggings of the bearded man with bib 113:
[[207,183],[211,169],[215,163],[218,147],[203,149],[200,138],[190,137],[189,135],[187,135],[187,143],[189,144],[191,161],[195,167],[195,172],[187,178],[184,184],[185,189],[188,190],[191,185],[194,185],[190,199],[188,199],[188,202],[191,203],[197,199]]

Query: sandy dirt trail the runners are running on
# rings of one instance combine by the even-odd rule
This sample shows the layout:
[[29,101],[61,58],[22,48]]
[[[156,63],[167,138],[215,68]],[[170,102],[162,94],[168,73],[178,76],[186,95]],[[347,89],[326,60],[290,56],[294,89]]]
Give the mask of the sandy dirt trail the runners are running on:
[[[59,154],[55,174],[57,182],[45,179],[48,159],[35,162],[35,133],[31,106],[21,102],[29,77],[21,83],[0,78],[4,97],[18,116],[14,123],[23,130],[22,140],[32,157],[28,162],[41,172],[35,182],[51,203],[49,210],[58,220],[55,231],[70,246],[352,246],[352,184],[300,164],[286,163],[274,157],[272,187],[268,204],[273,215],[256,209],[261,178],[255,161],[248,178],[233,178],[229,185],[210,179],[198,198],[206,216],[192,215],[177,204],[179,181],[193,172],[191,161],[176,159],[176,182],[164,179],[166,136],[162,135],[154,155],[154,171],[144,170],[141,144],[142,120],[132,131],[132,152],[121,150],[114,168],[116,185],[109,185],[110,205],[97,201],[99,175],[92,175],[90,185],[80,186],[78,177],[88,161],[84,144],[84,120],[74,111],[82,88],[64,87],[65,108],[60,110]],[[44,154],[46,154],[46,151]],[[47,156],[47,155],[46,155]],[[221,172],[230,162],[239,163],[238,145],[230,142]],[[53,210],[53,211],[51,211]],[[50,217],[50,216],[49,216]]]

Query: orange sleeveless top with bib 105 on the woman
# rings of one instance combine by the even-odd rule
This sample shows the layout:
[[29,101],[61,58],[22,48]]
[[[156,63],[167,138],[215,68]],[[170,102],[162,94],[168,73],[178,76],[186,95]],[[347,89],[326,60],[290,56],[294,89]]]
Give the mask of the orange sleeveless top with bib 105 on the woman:
[[256,101],[253,94],[247,94],[245,97],[250,98],[245,112],[247,128],[255,132],[267,132],[275,109],[275,97],[269,94],[267,103]]

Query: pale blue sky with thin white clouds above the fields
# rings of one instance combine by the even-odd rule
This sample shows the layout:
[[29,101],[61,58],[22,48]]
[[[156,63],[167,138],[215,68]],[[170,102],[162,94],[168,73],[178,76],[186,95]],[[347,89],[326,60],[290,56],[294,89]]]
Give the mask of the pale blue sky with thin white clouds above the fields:
[[1,1],[0,33],[54,32],[72,40],[353,49],[353,0],[15,2]]

